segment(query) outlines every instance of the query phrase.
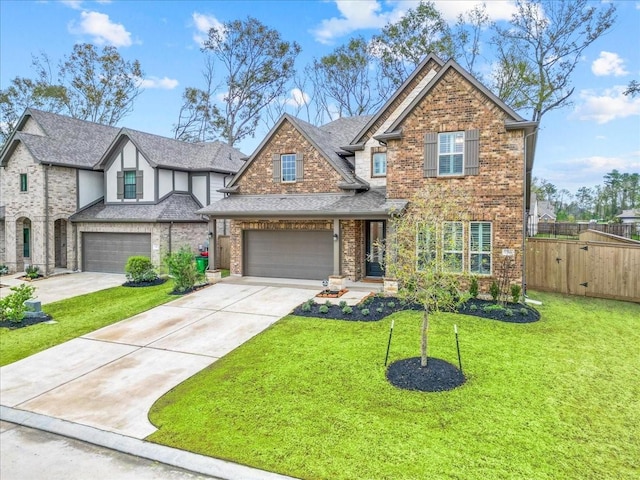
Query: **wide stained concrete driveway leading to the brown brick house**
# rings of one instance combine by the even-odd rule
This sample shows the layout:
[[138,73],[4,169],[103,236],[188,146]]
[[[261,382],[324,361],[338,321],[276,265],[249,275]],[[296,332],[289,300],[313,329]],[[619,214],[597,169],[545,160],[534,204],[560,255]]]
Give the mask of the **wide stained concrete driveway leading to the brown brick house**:
[[2,367],[0,404],[143,439],[158,398],[317,292],[218,283]]

